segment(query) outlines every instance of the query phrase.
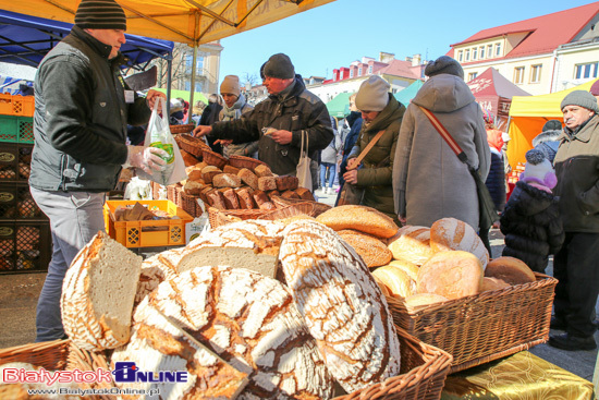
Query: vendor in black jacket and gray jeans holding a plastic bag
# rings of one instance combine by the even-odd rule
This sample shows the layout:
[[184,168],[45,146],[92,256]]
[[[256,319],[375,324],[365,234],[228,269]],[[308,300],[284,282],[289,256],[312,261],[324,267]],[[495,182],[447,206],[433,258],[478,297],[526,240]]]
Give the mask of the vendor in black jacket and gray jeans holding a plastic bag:
[[129,90],[119,70],[125,13],[114,0],[83,0],[71,34],[41,60],[35,78],[35,147],[30,192],[49,217],[52,259],[37,305],[36,341],[64,337],[60,296],[77,252],[105,230],[105,193],[118,183],[122,165],[151,173],[168,154],[126,146],[127,124],[148,122],[146,99]]

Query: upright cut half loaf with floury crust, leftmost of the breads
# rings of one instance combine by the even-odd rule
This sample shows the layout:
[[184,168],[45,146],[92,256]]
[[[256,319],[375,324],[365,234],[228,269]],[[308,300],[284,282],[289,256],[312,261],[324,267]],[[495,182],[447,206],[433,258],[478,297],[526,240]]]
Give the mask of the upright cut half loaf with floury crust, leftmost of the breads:
[[99,231],[73,259],[62,284],[62,325],[81,349],[127,342],[142,257]]

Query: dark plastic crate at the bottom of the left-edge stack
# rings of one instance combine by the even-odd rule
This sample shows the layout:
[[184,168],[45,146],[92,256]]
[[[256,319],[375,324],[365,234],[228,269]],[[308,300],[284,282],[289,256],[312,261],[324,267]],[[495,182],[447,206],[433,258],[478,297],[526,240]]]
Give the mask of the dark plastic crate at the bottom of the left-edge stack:
[[0,274],[47,270],[51,256],[49,221],[0,221]]

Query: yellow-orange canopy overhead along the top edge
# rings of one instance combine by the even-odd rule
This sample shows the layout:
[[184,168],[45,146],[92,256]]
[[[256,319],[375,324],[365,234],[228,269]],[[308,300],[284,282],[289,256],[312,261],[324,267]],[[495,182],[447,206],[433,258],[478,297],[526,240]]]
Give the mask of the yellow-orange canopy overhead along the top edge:
[[[117,0],[127,33],[200,45],[249,31],[334,0]],[[72,23],[80,1],[1,0],[2,9]]]

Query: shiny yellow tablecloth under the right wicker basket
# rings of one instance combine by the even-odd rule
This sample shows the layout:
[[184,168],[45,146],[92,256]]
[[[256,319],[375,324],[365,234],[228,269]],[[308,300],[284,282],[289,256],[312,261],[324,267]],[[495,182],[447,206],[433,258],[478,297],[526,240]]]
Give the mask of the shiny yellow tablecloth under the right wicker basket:
[[592,383],[528,351],[448,376],[441,400],[589,400]]

